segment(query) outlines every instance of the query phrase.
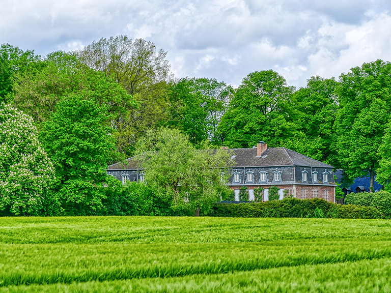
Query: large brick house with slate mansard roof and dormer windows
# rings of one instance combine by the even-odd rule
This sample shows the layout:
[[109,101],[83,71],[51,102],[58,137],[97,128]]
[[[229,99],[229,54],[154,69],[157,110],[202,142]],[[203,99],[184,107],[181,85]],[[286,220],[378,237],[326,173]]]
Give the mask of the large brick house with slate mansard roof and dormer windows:
[[[252,149],[230,149],[232,166],[228,185],[239,200],[242,186],[248,188],[248,200],[254,200],[254,189],[263,187],[263,200],[268,200],[268,189],[277,186],[280,199],[284,191],[297,198],[323,198],[336,200],[336,183],[333,166],[306,157],[286,148],[268,148],[263,141]],[[123,183],[144,181],[144,170],[137,157],[108,166],[107,173]]]

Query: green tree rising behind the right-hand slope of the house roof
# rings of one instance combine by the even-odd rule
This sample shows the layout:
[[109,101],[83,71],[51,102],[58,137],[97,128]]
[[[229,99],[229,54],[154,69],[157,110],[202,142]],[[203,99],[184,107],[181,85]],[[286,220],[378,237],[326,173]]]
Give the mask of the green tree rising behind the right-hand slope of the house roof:
[[296,131],[285,141],[285,147],[311,158],[338,165],[334,122],[338,98],[337,81],[313,76],[306,87],[291,96],[290,119]]

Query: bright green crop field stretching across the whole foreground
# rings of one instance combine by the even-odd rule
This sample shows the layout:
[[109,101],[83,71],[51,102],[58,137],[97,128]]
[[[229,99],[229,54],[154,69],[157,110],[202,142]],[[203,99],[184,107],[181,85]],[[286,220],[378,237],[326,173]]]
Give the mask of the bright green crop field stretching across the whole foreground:
[[0,218],[0,292],[391,292],[391,221]]

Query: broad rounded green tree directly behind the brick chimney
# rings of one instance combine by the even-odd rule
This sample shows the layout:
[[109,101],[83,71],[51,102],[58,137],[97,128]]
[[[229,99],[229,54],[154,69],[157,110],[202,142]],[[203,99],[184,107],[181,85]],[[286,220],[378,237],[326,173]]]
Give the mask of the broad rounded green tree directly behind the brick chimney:
[[292,87],[278,73],[250,73],[236,90],[218,132],[231,148],[252,147],[260,140],[271,147],[291,136],[295,124],[289,119]]

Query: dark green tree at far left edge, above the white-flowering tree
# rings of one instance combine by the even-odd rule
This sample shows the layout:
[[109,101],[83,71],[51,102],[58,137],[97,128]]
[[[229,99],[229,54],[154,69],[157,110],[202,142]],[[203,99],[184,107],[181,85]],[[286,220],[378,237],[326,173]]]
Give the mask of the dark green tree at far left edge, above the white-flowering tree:
[[0,47],[0,102],[11,99],[8,95],[13,93],[12,85],[16,73],[26,71],[31,64],[38,61],[39,56],[35,56],[34,51],[23,52],[18,47],[2,44]]

